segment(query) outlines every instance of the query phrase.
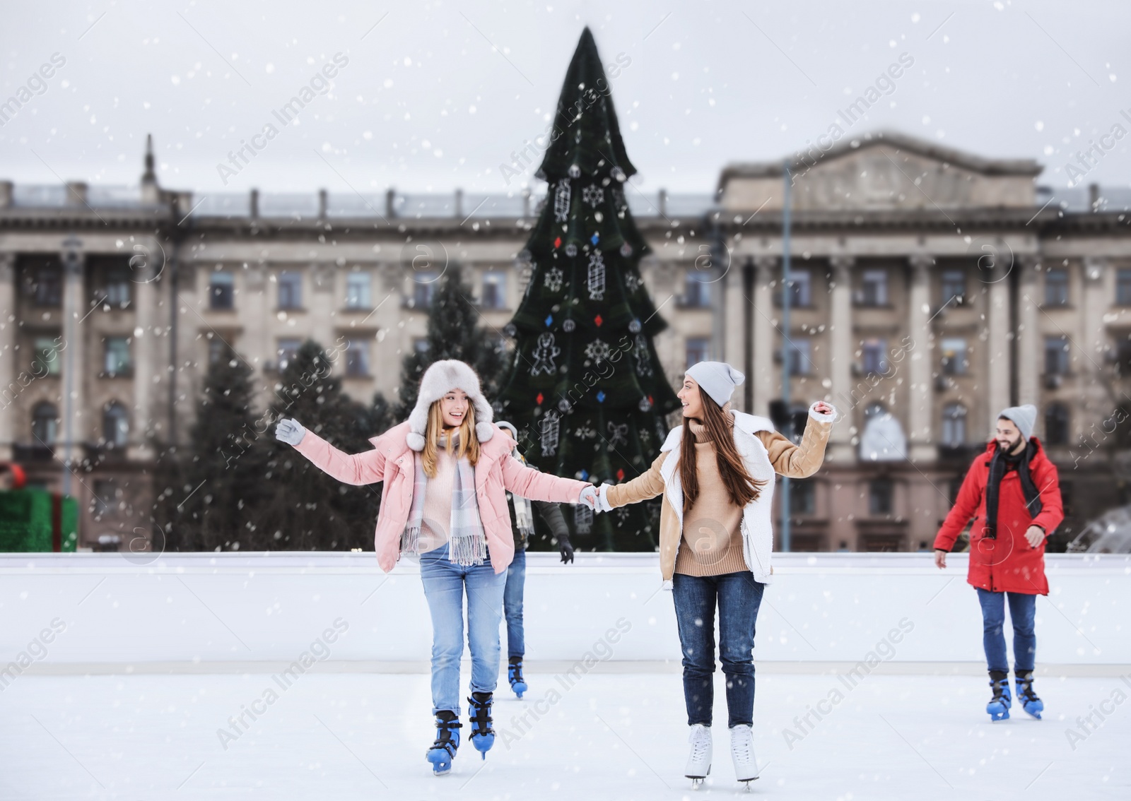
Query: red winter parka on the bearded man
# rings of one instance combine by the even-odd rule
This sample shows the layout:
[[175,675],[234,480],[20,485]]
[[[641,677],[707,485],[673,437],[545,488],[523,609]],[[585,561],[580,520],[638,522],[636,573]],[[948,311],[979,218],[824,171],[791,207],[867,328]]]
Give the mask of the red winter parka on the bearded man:
[[1033,437],[1037,452],[1029,462],[1029,477],[1041,495],[1041,512],[1034,517],[1025,505],[1025,493],[1017,470],[1002,477],[998,493],[998,538],[985,537],[986,481],[990,460],[998,450],[996,441],[978,454],[966,473],[958,499],[943,521],[934,547],[949,551],[955,540],[974,519],[970,526],[970,569],[966,581],[991,592],[1018,592],[1028,595],[1047,595],[1045,578],[1045,543],[1036,548],[1025,539],[1030,525],[1039,525],[1052,534],[1064,520],[1060,497],[1060,477],[1056,465],[1048,461],[1041,442]]

